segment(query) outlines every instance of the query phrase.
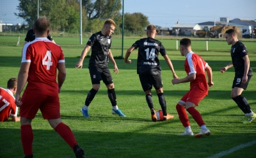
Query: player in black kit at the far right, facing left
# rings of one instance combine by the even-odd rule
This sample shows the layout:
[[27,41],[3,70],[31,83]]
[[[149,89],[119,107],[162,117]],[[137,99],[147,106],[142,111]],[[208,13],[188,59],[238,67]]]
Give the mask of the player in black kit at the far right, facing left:
[[237,39],[237,31],[235,29],[228,29],[225,32],[225,38],[228,45],[231,47],[232,61],[226,67],[220,69],[223,73],[228,68],[235,68],[235,77],[232,85],[231,98],[236,102],[237,106],[244,112],[243,123],[250,123],[256,118],[246,98],[241,94],[246,90],[249,81],[252,77],[252,68],[250,67],[250,60],[245,45]]

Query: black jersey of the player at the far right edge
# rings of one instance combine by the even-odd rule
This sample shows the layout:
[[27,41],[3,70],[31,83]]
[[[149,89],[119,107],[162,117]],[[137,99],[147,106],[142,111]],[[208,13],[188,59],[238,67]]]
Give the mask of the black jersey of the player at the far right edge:
[[[236,42],[235,45],[231,47],[231,58],[233,67],[235,68],[236,75],[244,74],[244,56],[247,56],[248,52],[245,45],[242,42]],[[252,68],[249,67],[248,74],[252,75]]]

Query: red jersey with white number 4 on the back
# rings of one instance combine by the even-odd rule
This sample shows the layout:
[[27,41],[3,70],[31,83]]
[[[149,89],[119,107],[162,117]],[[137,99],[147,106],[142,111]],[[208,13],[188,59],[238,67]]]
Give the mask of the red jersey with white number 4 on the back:
[[25,91],[42,95],[58,95],[56,82],[58,63],[65,63],[63,51],[59,45],[46,37],[36,38],[24,45],[22,63],[29,62],[28,85]]

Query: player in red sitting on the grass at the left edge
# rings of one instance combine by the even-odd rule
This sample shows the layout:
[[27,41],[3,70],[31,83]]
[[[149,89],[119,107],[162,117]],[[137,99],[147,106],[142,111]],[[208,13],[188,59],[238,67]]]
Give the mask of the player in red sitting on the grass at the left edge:
[[19,122],[18,107],[13,96],[17,90],[17,79],[11,78],[7,83],[7,89],[0,87],[0,122],[6,122],[12,116],[13,122]]

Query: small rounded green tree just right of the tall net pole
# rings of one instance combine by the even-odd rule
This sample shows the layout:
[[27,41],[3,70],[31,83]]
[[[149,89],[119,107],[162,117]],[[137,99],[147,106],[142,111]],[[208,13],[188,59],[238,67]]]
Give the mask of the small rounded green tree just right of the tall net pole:
[[[149,24],[148,17],[143,13],[125,13],[124,28],[129,31],[141,31]],[[122,24],[120,25],[122,27]]]

